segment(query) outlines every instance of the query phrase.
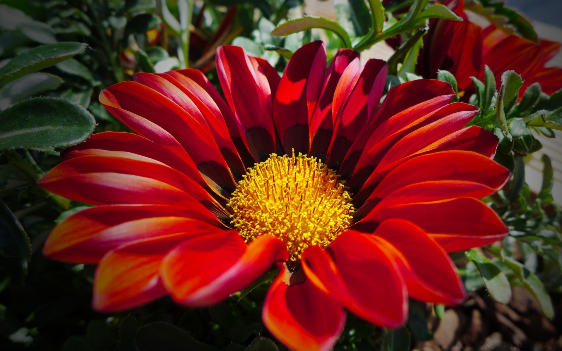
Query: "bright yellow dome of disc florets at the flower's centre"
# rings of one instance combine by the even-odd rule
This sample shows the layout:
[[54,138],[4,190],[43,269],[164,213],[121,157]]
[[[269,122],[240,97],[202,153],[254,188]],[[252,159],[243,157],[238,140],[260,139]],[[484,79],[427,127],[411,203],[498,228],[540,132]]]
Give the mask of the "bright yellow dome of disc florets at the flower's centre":
[[313,157],[271,156],[248,170],[228,203],[231,224],[247,243],[279,236],[292,261],[312,245],[325,247],[351,224],[353,206],[334,171]]

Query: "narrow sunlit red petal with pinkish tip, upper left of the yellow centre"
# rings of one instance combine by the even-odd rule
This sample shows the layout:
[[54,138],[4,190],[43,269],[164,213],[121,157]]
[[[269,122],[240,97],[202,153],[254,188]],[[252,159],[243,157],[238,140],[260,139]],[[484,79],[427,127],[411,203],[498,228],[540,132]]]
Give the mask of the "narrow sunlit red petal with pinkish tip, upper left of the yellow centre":
[[[166,78],[168,80],[166,80]],[[238,151],[234,147],[232,139],[230,139],[228,129],[226,128],[226,124],[222,118],[219,119],[214,113],[209,113],[209,107],[205,107],[203,109],[203,111],[207,112],[206,115],[203,116],[200,108],[198,108],[192,99],[184,93],[183,90],[187,89],[185,89],[181,83],[172,78],[170,75],[137,73],[134,75],[134,79],[135,81],[138,81],[139,83],[146,85],[169,98],[188,112],[189,115],[193,116],[203,129],[212,134],[221,154],[228,163],[230,170],[235,171],[238,176],[237,179],[241,179],[241,175],[246,173],[246,168],[244,168],[244,165],[238,156]],[[174,80],[176,81],[176,84],[173,84]]]

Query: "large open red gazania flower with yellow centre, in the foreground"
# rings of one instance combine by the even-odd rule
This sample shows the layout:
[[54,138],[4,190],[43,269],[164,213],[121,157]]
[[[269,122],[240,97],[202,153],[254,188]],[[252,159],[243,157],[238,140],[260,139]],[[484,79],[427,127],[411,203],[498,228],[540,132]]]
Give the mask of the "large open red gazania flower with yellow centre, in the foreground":
[[326,70],[322,42],[295,52],[282,78],[239,47],[220,47],[216,63],[226,102],[197,70],[107,88],[100,102],[137,134],[94,134],[40,180],[97,205],[43,249],[98,264],[94,308],[166,294],[209,306],[277,265],[264,323],[309,351],[333,347],[345,308],[397,327],[408,296],[465,299],[447,253],[507,233],[478,200],[509,172],[491,160],[494,135],[463,129],[477,108],[448,104],[438,80],[395,86],[379,106],[385,63],[343,49]]

